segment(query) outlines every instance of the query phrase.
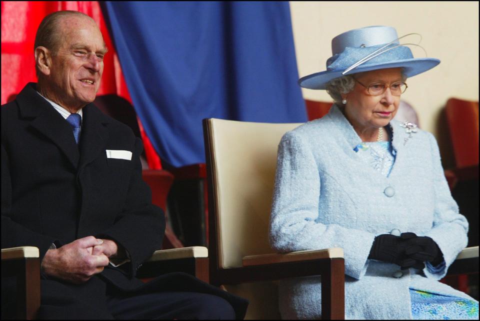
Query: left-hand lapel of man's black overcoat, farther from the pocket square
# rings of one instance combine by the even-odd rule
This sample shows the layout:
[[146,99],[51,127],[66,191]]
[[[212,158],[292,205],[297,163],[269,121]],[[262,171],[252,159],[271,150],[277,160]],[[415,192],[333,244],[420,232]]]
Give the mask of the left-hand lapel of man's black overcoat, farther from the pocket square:
[[36,92],[33,83],[27,84],[16,100],[21,116],[33,118],[30,125],[53,141],[76,168],[79,159],[78,146],[68,122]]

